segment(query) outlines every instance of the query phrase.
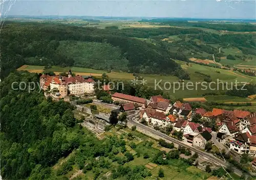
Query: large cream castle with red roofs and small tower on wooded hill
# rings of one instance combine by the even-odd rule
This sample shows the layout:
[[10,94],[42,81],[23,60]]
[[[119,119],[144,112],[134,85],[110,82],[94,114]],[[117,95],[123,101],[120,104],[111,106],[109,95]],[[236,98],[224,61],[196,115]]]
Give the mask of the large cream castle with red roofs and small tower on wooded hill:
[[68,94],[84,94],[94,92],[95,81],[92,78],[84,79],[80,75],[72,76],[71,70],[69,70],[68,77],[61,75],[46,75],[42,74],[40,76],[40,86],[44,90],[53,89],[59,91],[59,95],[62,97]]

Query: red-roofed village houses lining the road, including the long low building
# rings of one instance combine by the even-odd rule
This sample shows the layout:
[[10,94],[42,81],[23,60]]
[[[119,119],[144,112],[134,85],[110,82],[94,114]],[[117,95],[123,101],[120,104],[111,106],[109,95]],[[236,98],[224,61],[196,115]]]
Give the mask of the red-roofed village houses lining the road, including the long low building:
[[150,125],[160,127],[173,126],[174,131],[183,133],[183,141],[203,148],[211,141],[211,128],[204,124],[191,122],[195,115],[205,121],[215,120],[218,127],[217,140],[238,153],[249,152],[256,155],[256,114],[248,111],[227,111],[214,108],[207,112],[203,108],[193,109],[188,102],[176,101],[173,105],[161,95],[152,96],[149,100],[114,93],[113,100],[123,102],[121,111],[133,111],[134,105],[140,107],[140,119]]

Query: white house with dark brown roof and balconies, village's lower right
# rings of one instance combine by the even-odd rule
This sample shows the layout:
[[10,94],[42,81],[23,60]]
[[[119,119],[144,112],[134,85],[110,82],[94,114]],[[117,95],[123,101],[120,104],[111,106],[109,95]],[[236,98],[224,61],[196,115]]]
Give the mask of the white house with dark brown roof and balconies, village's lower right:
[[250,151],[250,142],[248,133],[238,133],[230,140],[230,149],[238,153],[248,153]]

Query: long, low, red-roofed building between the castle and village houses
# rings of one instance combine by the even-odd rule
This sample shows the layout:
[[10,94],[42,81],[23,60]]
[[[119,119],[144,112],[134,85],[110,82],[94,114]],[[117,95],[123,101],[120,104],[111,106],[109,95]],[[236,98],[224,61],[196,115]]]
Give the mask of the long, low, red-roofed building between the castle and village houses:
[[113,101],[119,101],[119,102],[133,102],[134,104],[137,104],[138,106],[145,106],[146,99],[136,96],[131,96],[127,94],[122,93],[114,93],[112,94],[111,98]]

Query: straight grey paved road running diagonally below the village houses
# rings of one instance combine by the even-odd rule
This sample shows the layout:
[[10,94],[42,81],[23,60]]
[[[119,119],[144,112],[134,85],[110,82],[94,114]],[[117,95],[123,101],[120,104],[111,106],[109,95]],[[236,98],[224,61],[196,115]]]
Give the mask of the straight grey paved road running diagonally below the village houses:
[[[179,140],[177,140],[177,139],[175,139],[175,138],[172,138],[172,137],[169,137],[169,136],[167,136],[167,135],[165,135],[165,134],[163,134],[163,133],[160,133],[160,132],[154,130],[153,128],[150,128],[150,127],[148,127],[148,126],[146,126],[146,125],[140,124],[140,123],[137,122],[137,121],[134,121],[134,120],[133,120],[133,117],[134,117],[134,116],[135,116],[135,115],[130,115],[130,116],[128,117],[128,118],[129,118],[129,121],[132,122],[133,124],[135,124],[136,126],[138,126],[138,127],[140,127],[140,128],[143,128],[143,130],[148,131],[148,132],[151,132],[152,134],[156,134],[156,135],[160,136],[162,139],[165,139],[165,140],[174,142],[174,143],[176,143],[176,144],[179,144],[179,145],[181,145],[181,146],[183,146],[183,147],[189,148],[190,150],[192,150],[192,151],[194,151],[194,152],[197,152],[198,155],[203,156],[203,157],[205,157],[205,158],[208,158],[209,161],[211,161],[211,163],[214,163],[214,164],[217,164],[217,165],[221,165],[221,166],[223,166],[223,167],[225,167],[225,168],[227,168],[227,167],[229,166],[229,163],[224,162],[224,161],[220,160],[219,158],[216,158],[215,156],[213,156],[213,155],[211,155],[211,154],[209,154],[209,153],[207,153],[207,152],[201,151],[201,150],[199,150],[199,149],[197,149],[197,148],[195,148],[195,147],[192,147],[192,146],[190,146],[190,145],[187,145],[187,144],[183,143],[182,141],[179,141]],[[237,168],[235,168],[235,167],[233,167],[233,172],[236,173],[236,174],[238,174],[238,175],[240,175],[240,176],[242,175],[242,171],[239,170],[239,169],[237,169]]]

